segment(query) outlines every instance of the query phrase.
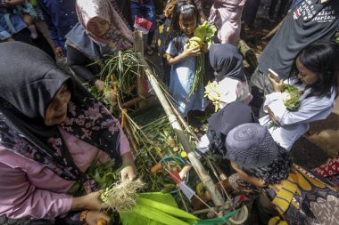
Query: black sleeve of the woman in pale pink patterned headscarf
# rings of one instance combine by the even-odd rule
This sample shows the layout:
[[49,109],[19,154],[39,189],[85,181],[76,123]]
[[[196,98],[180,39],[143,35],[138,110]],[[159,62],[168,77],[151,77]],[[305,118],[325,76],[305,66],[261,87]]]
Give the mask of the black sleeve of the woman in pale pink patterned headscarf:
[[76,76],[79,76],[85,83],[95,84],[95,74],[87,67],[87,65],[91,64],[93,61],[88,59],[84,53],[79,52],[79,50],[70,45],[66,45],[66,48],[67,63]]

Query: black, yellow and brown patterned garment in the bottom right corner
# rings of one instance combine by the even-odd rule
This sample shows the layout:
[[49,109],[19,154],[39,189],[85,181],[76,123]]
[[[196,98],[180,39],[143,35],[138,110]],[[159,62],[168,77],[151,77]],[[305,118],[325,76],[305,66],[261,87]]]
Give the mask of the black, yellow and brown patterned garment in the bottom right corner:
[[339,224],[338,191],[298,165],[281,185],[265,191],[288,224]]

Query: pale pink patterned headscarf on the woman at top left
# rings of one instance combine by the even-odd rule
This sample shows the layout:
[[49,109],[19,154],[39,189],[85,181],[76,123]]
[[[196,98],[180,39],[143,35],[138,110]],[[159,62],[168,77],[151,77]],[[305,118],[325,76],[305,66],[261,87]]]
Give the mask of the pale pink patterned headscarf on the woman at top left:
[[[124,20],[120,18],[119,13],[116,12],[112,7],[112,4],[109,0],[77,0],[76,10],[79,22],[81,23],[82,27],[86,29],[87,35],[93,41],[95,41],[95,43],[122,44],[123,48],[129,48],[132,46],[132,32]],[[88,21],[95,17],[99,17],[110,23],[111,36],[108,36],[107,38],[101,38],[93,35],[87,30]],[[116,38],[114,38],[114,36]]]

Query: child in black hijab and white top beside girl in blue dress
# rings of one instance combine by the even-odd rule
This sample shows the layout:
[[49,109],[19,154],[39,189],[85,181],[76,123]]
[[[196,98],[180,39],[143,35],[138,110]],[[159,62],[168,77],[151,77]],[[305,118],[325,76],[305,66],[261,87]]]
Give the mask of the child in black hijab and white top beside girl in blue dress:
[[220,92],[220,108],[233,101],[248,104],[252,94],[246,81],[243,56],[232,44],[211,44],[209,58]]

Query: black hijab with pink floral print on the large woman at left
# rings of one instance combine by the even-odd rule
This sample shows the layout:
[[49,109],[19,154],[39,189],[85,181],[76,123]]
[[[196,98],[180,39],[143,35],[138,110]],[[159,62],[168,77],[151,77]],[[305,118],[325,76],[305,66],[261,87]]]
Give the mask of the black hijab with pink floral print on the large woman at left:
[[117,120],[81,84],[29,44],[1,43],[0,52],[0,145],[46,165],[66,180],[86,182],[58,127],[44,124],[49,103],[62,84],[68,84],[71,99],[60,127],[120,164]]

